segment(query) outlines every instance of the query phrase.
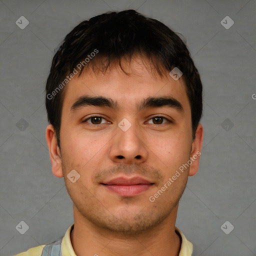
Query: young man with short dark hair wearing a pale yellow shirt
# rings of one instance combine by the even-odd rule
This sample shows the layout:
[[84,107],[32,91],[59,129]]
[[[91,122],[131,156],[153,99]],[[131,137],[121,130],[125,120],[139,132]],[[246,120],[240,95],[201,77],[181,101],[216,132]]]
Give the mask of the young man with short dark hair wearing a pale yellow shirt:
[[135,10],[83,21],[53,57],[46,109],[74,224],[18,255],[191,255],[175,220],[199,166],[202,85],[183,41]]

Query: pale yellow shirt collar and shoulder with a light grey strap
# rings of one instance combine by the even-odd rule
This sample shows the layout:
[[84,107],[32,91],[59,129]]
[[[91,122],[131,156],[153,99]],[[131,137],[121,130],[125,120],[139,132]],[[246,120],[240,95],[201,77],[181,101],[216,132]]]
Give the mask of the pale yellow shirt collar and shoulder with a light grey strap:
[[[32,247],[27,251],[14,256],[76,256],[70,240],[70,232],[73,229],[73,226],[74,224],[70,225],[66,230],[65,235],[60,239],[49,244]],[[177,227],[175,227],[175,231],[181,237],[181,246],[178,255],[191,256],[193,249],[192,243],[186,239],[184,234]]]

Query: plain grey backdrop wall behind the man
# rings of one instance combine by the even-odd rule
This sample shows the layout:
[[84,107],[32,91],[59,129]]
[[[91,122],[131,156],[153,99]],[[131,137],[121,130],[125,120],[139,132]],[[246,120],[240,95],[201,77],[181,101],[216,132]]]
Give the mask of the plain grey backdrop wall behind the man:
[[[56,240],[73,223],[63,179],[51,173],[45,81],[54,49],[78,22],[128,8],[186,38],[204,86],[201,162],[176,226],[194,255],[256,255],[255,0],[1,0],[0,255]],[[21,15],[24,29],[15,24]],[[220,23],[227,15],[229,29]]]

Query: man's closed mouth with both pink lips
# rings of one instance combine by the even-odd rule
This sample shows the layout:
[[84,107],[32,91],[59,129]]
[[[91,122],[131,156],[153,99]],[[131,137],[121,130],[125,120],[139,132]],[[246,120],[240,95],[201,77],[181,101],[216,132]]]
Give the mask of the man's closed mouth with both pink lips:
[[120,196],[135,196],[140,194],[143,191],[146,191],[153,186],[154,183],[139,177],[135,176],[132,178],[127,177],[117,177],[109,181],[100,183],[108,190],[120,195]]

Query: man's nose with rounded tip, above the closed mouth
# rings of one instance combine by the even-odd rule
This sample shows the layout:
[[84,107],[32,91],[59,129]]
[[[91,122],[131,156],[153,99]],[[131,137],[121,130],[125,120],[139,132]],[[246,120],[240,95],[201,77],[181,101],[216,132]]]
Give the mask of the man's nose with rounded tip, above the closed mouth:
[[135,122],[126,131],[117,126],[109,149],[110,159],[125,164],[144,162],[148,157],[145,139]]

